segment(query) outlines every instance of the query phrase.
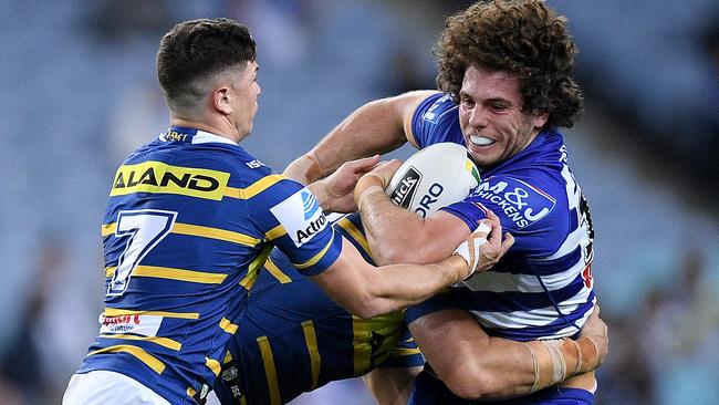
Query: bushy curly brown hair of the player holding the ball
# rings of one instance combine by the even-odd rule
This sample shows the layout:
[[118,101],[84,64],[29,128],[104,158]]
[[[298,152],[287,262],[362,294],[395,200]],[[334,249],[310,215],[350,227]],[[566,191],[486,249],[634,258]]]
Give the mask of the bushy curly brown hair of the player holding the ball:
[[541,0],[479,1],[447,19],[434,53],[437,86],[455,102],[475,65],[517,74],[522,110],[548,112],[545,127],[572,127],[582,115],[582,91],[572,77],[577,48],[566,18]]

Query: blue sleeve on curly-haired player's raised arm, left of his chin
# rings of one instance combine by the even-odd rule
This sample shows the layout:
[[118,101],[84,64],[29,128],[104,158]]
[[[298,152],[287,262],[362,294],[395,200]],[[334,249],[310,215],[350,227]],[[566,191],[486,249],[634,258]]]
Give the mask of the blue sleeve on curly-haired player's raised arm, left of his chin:
[[463,145],[459,128],[458,106],[449,94],[433,94],[425,98],[411,117],[411,132],[417,146],[454,142]]

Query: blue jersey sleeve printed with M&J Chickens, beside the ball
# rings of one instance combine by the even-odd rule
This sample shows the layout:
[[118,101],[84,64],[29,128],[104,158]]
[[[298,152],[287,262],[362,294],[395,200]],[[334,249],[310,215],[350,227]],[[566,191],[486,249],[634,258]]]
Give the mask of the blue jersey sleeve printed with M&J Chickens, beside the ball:
[[441,210],[462,219],[471,230],[491,210],[499,217],[502,230],[514,237],[510,251],[528,257],[549,255],[559,248],[569,227],[567,218],[559,215],[562,210],[555,209],[562,201],[551,189],[552,185],[541,179],[498,175],[484,179],[462,201]]

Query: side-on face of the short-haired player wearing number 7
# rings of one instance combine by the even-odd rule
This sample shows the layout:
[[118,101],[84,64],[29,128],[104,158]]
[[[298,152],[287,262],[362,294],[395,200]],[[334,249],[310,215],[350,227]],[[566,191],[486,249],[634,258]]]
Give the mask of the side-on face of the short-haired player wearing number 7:
[[258,110],[257,97],[262,93],[260,84],[257,82],[258,70],[257,62],[248,62],[247,68],[238,74],[238,79],[231,85],[232,92],[236,94],[232,116],[240,139],[252,132],[252,121]]

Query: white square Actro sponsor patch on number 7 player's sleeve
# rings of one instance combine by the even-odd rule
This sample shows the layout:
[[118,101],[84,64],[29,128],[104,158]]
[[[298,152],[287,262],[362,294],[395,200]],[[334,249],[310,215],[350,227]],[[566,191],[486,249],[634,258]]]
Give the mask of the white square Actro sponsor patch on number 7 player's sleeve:
[[298,248],[312,240],[327,226],[327,218],[320,209],[320,202],[306,188],[270,208],[270,212],[284,227]]

